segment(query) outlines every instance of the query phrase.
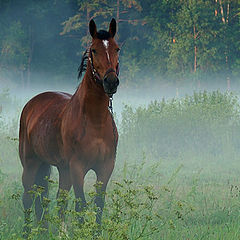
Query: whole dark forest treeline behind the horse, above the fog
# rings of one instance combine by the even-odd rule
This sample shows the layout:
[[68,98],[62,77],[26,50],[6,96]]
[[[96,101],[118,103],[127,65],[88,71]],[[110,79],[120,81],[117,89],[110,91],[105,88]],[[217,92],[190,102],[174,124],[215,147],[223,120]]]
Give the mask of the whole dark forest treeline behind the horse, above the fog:
[[196,86],[240,78],[239,0],[0,0],[0,82],[73,83],[88,22],[119,26],[121,80]]

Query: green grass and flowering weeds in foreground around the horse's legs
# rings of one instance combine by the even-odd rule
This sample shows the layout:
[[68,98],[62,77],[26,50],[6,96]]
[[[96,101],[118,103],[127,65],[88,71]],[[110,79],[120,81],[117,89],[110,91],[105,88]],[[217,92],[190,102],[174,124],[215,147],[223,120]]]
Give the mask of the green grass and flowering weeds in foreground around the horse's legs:
[[[118,169],[120,171],[120,169]],[[160,170],[163,173],[165,170]],[[93,205],[94,194],[89,192],[88,204],[82,213],[74,208],[74,196],[65,194],[63,199],[54,199],[53,194],[43,199],[44,211],[47,212],[49,231],[43,221],[36,223],[31,210],[31,228],[28,239],[176,239],[188,237],[194,239],[204,236],[210,239],[238,238],[239,224],[239,185],[222,185],[211,181],[205,185],[200,172],[186,182],[179,178],[177,169],[167,183],[148,185],[138,181],[145,173],[140,172],[134,180],[113,181],[107,191],[102,226],[95,223],[96,207]],[[159,174],[158,173],[158,174]],[[221,171],[222,173],[222,171]],[[206,179],[205,179],[206,180]],[[224,181],[219,176],[218,180]],[[179,185],[179,181],[181,184]],[[230,180],[233,182],[233,180]],[[6,185],[6,183],[8,184]],[[9,182],[6,176],[1,178],[1,239],[23,239],[23,209],[21,205],[21,187],[17,182]],[[50,181],[50,193],[56,192],[57,182]],[[209,188],[211,191],[209,191]],[[32,197],[36,199],[42,189],[35,188]],[[70,203],[65,212],[65,221],[58,216],[59,202]],[[34,207],[34,206],[33,206]],[[84,217],[84,223],[78,218]],[[16,221],[17,219],[17,221]]]

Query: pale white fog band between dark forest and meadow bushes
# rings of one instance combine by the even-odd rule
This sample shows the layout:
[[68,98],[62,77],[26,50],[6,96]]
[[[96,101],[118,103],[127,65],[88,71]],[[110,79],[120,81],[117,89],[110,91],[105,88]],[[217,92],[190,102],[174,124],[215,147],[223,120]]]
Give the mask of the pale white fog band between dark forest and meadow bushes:
[[[151,81],[151,76],[147,77],[146,75],[144,78],[148,78],[149,82]],[[80,84],[77,80],[77,73],[75,78],[66,78],[64,83],[60,84],[51,83],[51,78],[48,80],[44,79],[44,82],[46,82],[44,84],[41,84],[39,79],[34,82],[37,83],[24,89],[9,80],[2,82],[1,90],[3,92],[8,92],[10,99],[17,102],[17,105],[12,105],[13,108],[5,108],[5,104],[2,103],[4,115],[6,114],[6,116],[8,116],[8,114],[13,113],[15,111],[14,107],[16,106],[21,108],[27,103],[27,101],[39,93],[46,91],[59,91],[74,94],[77,86]],[[139,78],[139,84],[135,84],[135,86],[126,86],[124,82],[124,79],[122,79],[120,75],[120,86],[118,87],[117,93],[113,96],[113,107],[117,118],[121,118],[121,112],[124,105],[131,105],[133,107],[141,105],[147,106],[151,101],[161,101],[163,98],[166,100],[171,98],[181,98],[199,91],[231,91],[236,95],[240,94],[240,85],[237,82],[230,88],[227,86],[227,81],[217,80],[210,81],[209,83],[200,86],[196,83],[189,84],[188,82],[180,85],[172,84],[171,80],[166,81],[164,84],[146,84],[141,83],[141,78]],[[138,80],[136,80],[136,82],[138,82]]]

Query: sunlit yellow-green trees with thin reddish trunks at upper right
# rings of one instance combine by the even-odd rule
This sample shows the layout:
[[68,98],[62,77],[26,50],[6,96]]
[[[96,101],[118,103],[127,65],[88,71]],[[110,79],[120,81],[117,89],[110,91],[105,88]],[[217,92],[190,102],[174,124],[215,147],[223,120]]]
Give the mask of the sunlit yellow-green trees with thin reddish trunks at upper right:
[[[237,26],[233,15],[238,10],[234,1],[224,2],[223,7],[229,7],[230,10],[224,13],[228,15],[229,21],[223,24],[218,4],[188,0],[157,1],[152,4],[154,10],[147,18],[155,31],[149,42],[153,51],[162,51],[159,55],[155,53],[159,59],[157,67],[161,67],[162,73],[176,79],[198,78],[201,81],[213,76],[221,77],[223,73],[232,76],[232,64],[237,61],[237,57],[230,52],[238,42],[237,34],[233,34]],[[231,55],[231,64],[226,62],[227,55]],[[162,67],[162,63],[165,63],[167,69],[164,69],[164,65]]]

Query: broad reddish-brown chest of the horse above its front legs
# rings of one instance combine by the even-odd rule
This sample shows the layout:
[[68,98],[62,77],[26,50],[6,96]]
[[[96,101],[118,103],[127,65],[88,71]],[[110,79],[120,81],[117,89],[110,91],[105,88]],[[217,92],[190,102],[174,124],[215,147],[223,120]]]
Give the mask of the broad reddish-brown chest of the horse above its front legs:
[[[74,130],[75,129],[75,130]],[[91,121],[81,121],[78,130],[73,126],[68,132],[64,144],[67,148],[65,159],[77,158],[87,162],[91,168],[93,165],[114,158],[114,134],[112,123],[92,124]]]

